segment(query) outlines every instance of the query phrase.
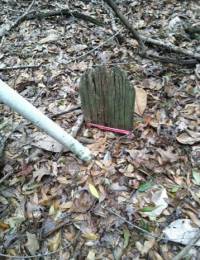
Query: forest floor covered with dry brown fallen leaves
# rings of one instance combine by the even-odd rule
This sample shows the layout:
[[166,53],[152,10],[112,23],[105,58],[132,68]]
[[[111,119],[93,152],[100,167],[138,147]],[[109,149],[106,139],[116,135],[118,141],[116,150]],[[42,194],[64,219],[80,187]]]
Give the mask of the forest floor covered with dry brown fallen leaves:
[[[198,1],[116,2],[139,33],[200,53],[199,33],[184,31],[200,21]],[[0,34],[30,4],[1,0]],[[74,15],[25,19],[0,38],[0,78],[69,133],[82,116],[79,80],[88,68],[125,70],[137,109],[131,137],[85,124],[75,130],[94,156],[85,164],[0,104],[1,138],[9,136],[0,173],[1,259],[168,260],[180,252],[200,259],[199,65],[142,58],[104,1],[32,4],[35,13],[65,8],[103,26]]]

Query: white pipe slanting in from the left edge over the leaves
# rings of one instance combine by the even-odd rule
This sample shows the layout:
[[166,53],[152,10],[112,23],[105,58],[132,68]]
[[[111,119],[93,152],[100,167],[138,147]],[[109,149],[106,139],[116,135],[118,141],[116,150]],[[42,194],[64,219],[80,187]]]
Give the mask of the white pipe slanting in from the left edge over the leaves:
[[15,112],[18,112],[24,118],[30,120],[34,125],[44,130],[59,143],[75,153],[81,160],[91,160],[92,156],[87,147],[84,147],[71,135],[67,134],[59,125],[45,116],[2,80],[0,80],[0,102],[11,107]]

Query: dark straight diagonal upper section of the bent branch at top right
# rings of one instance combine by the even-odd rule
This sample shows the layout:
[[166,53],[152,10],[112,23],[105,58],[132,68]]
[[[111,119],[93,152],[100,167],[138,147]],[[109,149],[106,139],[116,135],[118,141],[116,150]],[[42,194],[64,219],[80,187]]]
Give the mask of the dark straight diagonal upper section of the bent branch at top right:
[[119,11],[117,8],[117,5],[112,0],[104,0],[115,12],[115,14],[119,17],[119,19],[122,21],[122,23],[129,29],[129,31],[132,33],[133,37],[138,41],[139,45],[142,49],[145,48],[144,43],[142,42],[142,39],[138,32],[133,28],[133,26],[129,23],[127,18]]

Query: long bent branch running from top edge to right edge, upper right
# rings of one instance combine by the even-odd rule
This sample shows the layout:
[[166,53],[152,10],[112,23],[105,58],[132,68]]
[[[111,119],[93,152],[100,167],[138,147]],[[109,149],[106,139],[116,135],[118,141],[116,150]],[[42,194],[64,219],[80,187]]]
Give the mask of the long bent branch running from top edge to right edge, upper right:
[[176,52],[179,54],[183,54],[189,57],[192,57],[196,60],[200,60],[200,53],[195,53],[194,51],[185,50],[183,48],[177,47],[173,44],[167,44],[159,40],[152,39],[150,37],[146,37],[140,35],[137,30],[133,28],[133,26],[129,23],[128,19],[118,10],[117,5],[113,2],[113,0],[104,0],[115,12],[116,16],[120,18],[121,22],[126,26],[126,28],[132,33],[133,38],[142,44],[147,43],[151,45],[156,45],[162,47],[163,49],[169,50],[171,52]]

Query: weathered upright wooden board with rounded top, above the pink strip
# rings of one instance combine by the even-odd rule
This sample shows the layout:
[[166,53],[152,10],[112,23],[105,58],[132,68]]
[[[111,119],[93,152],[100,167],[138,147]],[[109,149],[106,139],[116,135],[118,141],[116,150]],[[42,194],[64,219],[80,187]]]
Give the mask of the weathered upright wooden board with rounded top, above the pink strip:
[[86,71],[80,97],[87,123],[132,130],[135,90],[121,69],[101,66]]

